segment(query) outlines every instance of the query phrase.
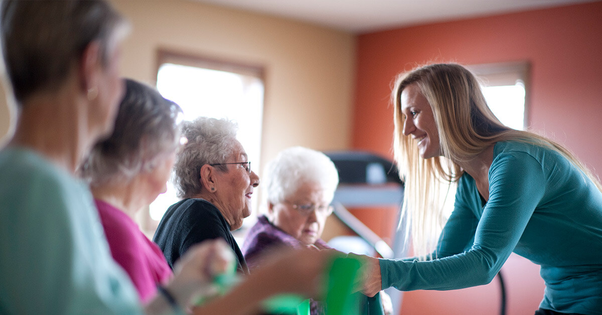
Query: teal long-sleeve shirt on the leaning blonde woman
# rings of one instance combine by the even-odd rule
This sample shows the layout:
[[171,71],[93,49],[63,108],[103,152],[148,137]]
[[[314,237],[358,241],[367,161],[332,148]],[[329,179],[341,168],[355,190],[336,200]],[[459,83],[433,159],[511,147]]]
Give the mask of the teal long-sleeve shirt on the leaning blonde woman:
[[380,260],[382,287],[453,290],[491,282],[510,253],[541,266],[541,308],[602,314],[602,193],[556,151],[498,142],[483,206],[474,179],[458,183],[438,259]]

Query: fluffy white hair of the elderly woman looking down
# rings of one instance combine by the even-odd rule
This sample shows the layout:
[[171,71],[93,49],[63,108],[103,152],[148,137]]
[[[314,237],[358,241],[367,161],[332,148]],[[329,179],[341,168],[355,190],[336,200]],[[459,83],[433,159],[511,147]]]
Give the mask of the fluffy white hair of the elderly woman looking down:
[[338,171],[329,157],[319,151],[294,146],[281,151],[268,162],[263,176],[270,204],[283,202],[299,186],[315,182],[329,200],[338,186]]

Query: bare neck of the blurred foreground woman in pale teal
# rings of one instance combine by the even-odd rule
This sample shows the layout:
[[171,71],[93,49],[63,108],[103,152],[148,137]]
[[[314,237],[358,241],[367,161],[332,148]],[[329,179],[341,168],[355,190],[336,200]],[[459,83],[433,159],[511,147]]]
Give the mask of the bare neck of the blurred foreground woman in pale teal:
[[23,104],[10,146],[33,149],[58,167],[75,173],[92,142],[87,104],[65,92],[42,93]]

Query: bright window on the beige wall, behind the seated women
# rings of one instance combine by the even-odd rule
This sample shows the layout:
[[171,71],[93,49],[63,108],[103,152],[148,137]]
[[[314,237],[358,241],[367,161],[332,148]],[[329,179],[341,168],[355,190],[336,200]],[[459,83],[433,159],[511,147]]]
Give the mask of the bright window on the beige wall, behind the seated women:
[[[249,161],[255,166],[260,165],[264,103],[261,67],[162,51],[159,54],[157,89],[164,98],[182,107],[184,120],[208,116],[236,121],[238,141],[249,155]],[[167,208],[177,201],[176,189],[169,182],[167,192],[151,204],[151,218],[161,220]]]

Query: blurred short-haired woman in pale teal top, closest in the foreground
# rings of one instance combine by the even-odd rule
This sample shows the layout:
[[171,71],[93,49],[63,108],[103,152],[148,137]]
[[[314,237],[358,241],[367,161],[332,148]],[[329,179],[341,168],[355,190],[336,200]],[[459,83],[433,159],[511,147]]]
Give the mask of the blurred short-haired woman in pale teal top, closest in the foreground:
[[[113,128],[123,93],[127,23],[105,1],[2,1],[2,52],[19,107],[0,152],[0,313],[149,314],[113,261],[89,190],[75,169]],[[183,260],[184,299],[211,274],[219,245]],[[209,255],[213,252],[212,255]],[[216,261],[217,261],[216,260]]]

